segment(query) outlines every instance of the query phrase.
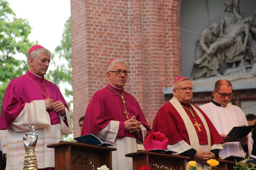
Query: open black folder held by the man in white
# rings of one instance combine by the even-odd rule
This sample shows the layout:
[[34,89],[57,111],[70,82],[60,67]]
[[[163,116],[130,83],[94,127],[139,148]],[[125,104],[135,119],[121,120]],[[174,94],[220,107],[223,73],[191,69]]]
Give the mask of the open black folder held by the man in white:
[[229,142],[236,142],[238,138],[242,138],[247,136],[251,130],[254,128],[253,126],[236,126],[231,129],[231,131],[227,134],[227,136],[232,136],[233,138]]

